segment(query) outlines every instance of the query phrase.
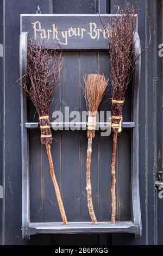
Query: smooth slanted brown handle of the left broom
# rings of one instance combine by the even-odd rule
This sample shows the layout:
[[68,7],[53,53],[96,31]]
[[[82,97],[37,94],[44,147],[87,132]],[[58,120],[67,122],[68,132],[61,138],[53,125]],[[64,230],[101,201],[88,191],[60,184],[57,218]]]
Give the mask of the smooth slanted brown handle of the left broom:
[[48,160],[49,160],[51,178],[52,178],[52,181],[53,181],[55,194],[56,194],[56,197],[57,197],[57,201],[58,201],[62,221],[64,222],[65,225],[67,225],[68,222],[67,222],[67,217],[66,217],[66,214],[65,214],[64,205],[62,203],[58,183],[57,183],[57,180],[55,178],[55,172],[54,172],[54,166],[53,166],[53,160],[52,160],[52,154],[51,154],[51,144],[46,143],[46,151],[47,151],[47,156],[48,156]]

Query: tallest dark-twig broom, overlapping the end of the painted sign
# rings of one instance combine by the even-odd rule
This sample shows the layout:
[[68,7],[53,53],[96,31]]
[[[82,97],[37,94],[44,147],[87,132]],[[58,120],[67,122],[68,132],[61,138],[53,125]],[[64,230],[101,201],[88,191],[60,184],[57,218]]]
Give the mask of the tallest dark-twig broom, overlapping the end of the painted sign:
[[111,107],[111,131],[113,132],[113,149],[111,158],[111,223],[115,223],[116,216],[116,151],[118,133],[122,131],[122,109],[126,90],[135,70],[135,48],[133,37],[136,31],[136,8],[129,3],[123,9],[118,10],[118,15],[109,22],[108,46],[110,52],[112,107]]

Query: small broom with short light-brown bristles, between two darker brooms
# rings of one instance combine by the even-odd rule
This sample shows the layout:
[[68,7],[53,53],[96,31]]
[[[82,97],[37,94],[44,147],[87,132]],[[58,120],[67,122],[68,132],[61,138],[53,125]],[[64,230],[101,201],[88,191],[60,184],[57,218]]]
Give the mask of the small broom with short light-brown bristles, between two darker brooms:
[[96,130],[96,114],[99,103],[102,101],[108,80],[104,75],[89,74],[85,78],[84,96],[86,100],[87,111],[89,112],[87,122],[87,160],[86,160],[86,191],[87,206],[93,224],[97,224],[95,212],[92,203],[91,188],[91,154],[92,154],[92,138],[95,138]]

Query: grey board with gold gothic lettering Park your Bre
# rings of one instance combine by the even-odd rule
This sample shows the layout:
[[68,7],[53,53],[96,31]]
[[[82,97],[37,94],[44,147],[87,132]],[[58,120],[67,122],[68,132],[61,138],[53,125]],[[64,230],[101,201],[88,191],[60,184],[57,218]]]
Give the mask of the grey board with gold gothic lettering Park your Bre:
[[[108,26],[111,15],[101,15]],[[106,49],[107,34],[99,15],[21,15],[21,30],[48,48]]]

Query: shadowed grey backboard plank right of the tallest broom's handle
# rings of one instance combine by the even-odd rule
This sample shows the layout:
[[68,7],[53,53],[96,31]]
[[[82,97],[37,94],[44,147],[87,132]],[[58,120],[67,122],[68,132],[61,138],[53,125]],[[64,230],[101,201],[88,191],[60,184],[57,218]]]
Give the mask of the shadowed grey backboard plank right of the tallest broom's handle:
[[[131,98],[133,83],[130,82],[126,92],[126,101],[123,106],[123,120],[131,120]],[[132,156],[133,157],[133,156]],[[127,161],[124,161],[127,159]],[[131,220],[131,131],[123,130],[118,137],[117,159],[117,219],[119,221]]]

